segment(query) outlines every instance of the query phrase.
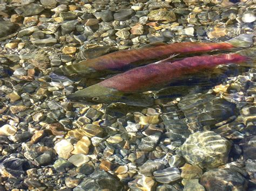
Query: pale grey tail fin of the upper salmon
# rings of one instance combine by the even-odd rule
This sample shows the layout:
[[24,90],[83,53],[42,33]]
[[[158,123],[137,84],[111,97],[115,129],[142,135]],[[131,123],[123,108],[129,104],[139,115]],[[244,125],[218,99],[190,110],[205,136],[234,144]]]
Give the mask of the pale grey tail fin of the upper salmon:
[[239,36],[227,40],[226,43],[233,45],[237,48],[248,48],[253,44],[254,34],[240,34]]

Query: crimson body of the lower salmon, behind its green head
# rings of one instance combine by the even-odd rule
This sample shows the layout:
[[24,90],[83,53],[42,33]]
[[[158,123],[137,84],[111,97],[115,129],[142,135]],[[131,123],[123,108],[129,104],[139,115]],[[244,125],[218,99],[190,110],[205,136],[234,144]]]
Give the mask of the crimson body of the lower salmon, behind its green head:
[[100,83],[100,86],[113,88],[125,93],[150,90],[161,86],[181,76],[198,72],[203,69],[213,68],[225,63],[239,63],[247,60],[246,56],[239,54],[204,55],[185,58],[179,61],[160,61],[150,65],[131,69],[118,74]]

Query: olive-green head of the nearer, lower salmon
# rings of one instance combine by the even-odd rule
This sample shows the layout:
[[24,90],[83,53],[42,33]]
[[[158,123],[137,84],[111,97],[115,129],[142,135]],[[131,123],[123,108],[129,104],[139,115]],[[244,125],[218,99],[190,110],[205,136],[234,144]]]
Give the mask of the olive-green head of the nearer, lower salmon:
[[113,103],[122,99],[123,93],[121,91],[107,88],[100,83],[89,86],[76,93],[67,96],[71,102],[80,102],[88,105],[95,105],[99,103]]

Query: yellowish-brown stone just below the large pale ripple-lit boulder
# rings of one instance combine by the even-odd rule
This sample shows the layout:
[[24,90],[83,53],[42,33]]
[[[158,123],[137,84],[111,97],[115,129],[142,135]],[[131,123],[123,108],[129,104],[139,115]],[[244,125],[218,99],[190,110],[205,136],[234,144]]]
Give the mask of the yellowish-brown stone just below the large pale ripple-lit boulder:
[[185,164],[181,167],[181,178],[183,179],[199,179],[201,178],[203,171],[198,166]]

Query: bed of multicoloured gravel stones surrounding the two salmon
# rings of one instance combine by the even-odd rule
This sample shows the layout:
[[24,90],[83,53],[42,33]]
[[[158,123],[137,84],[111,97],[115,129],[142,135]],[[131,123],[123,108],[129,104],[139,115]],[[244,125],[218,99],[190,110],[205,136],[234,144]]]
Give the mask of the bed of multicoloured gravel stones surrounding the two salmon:
[[69,103],[66,95],[95,82],[49,77],[158,41],[252,34],[255,8],[252,0],[0,1],[0,190],[255,190],[254,67],[219,66],[220,83],[152,108]]

